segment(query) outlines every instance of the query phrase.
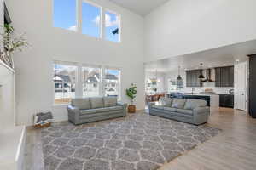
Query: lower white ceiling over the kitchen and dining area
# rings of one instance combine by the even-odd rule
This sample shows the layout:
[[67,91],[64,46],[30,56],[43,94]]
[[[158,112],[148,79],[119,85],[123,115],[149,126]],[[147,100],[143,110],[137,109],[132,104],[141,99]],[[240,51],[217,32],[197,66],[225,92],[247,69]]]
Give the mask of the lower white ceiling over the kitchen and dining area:
[[145,70],[148,72],[157,70],[158,72],[167,73],[176,72],[178,65],[181,66],[182,70],[199,69],[200,63],[203,63],[204,69],[234,65],[237,60],[239,62],[246,61],[249,54],[256,54],[256,40],[149,62],[145,64]]

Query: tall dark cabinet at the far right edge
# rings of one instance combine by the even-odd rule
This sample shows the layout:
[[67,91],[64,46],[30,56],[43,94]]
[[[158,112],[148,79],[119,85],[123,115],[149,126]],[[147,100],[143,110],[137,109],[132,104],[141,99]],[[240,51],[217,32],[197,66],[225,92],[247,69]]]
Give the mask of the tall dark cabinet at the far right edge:
[[256,118],[256,54],[249,55],[249,114]]

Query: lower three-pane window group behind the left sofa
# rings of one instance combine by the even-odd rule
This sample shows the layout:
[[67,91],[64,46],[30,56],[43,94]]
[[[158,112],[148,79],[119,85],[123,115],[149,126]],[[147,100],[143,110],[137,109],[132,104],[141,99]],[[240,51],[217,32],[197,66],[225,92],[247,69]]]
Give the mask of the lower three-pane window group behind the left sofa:
[[117,96],[120,100],[120,78],[119,69],[55,61],[52,79],[54,104],[67,105],[71,99],[80,97]]

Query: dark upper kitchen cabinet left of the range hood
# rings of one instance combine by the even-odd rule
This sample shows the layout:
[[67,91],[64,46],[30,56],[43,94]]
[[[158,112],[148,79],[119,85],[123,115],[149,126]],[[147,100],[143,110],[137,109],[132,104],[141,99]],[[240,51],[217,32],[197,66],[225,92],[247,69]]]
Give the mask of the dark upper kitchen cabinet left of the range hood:
[[201,75],[201,70],[186,71],[187,87],[201,87],[201,80],[198,78]]

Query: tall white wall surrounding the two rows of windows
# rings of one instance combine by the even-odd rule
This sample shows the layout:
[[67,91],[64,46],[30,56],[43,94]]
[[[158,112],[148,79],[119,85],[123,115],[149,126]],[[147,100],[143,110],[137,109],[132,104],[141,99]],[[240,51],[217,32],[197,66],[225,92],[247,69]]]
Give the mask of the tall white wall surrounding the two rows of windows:
[[[94,2],[121,14],[122,42],[113,43],[52,27],[51,0],[9,0],[16,31],[26,31],[32,48],[15,54],[16,102],[20,124],[32,124],[37,111],[53,111],[56,121],[67,120],[66,106],[53,106],[52,61],[120,67],[122,99],[125,88],[137,84],[137,108],[144,108],[143,18],[106,0]],[[65,19],[64,19],[65,20]]]

